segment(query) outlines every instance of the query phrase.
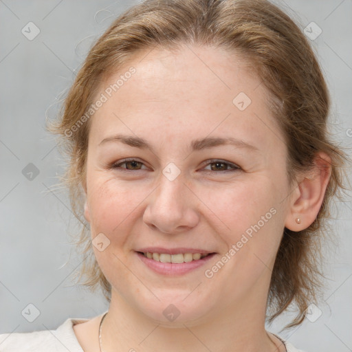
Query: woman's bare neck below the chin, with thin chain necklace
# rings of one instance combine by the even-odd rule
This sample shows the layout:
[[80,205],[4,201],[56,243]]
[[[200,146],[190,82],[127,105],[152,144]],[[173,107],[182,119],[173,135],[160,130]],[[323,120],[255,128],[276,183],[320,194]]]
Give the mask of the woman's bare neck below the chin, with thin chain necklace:
[[197,323],[170,327],[133,309],[113,289],[102,328],[102,351],[285,351],[265,331],[264,318],[265,304],[254,297],[240,307],[212,312]]

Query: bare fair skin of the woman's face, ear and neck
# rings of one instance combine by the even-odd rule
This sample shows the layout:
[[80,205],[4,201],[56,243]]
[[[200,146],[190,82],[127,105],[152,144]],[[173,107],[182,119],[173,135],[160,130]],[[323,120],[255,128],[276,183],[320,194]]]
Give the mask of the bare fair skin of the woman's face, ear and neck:
[[[329,157],[320,153],[316,168],[290,188],[287,147],[267,91],[236,54],[195,45],[140,52],[111,73],[97,97],[131,66],[135,74],[90,121],[85,217],[92,239],[102,233],[110,241],[102,252],[94,247],[112,285],[104,351],[285,351],[265,331],[272,267],[284,228],[303,230],[316,219]],[[240,92],[252,100],[244,111],[232,102]],[[142,137],[153,151],[100,144],[118,133]],[[254,148],[188,149],[203,137],[234,137]],[[127,157],[142,164],[111,166]],[[210,159],[228,164],[217,170]],[[170,162],[180,170],[173,181],[162,173]],[[231,164],[239,168],[223,171]],[[205,270],[273,208],[271,219],[207,278]],[[164,276],[135,253],[150,245],[217,254],[197,270]],[[180,312],[173,322],[163,314],[170,304]],[[100,319],[74,326],[86,352],[99,351]]]

